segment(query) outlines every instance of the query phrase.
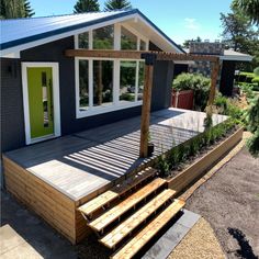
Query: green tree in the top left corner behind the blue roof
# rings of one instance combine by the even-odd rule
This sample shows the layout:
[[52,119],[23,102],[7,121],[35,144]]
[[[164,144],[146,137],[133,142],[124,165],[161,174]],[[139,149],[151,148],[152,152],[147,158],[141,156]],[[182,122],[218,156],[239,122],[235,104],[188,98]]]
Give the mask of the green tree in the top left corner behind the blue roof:
[[31,18],[35,13],[27,0],[1,0],[1,19]]

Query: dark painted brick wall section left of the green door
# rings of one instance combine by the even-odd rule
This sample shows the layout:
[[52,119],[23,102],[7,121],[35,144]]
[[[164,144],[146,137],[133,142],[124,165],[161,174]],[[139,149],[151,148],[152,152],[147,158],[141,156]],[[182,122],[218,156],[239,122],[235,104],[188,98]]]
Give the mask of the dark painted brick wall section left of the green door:
[[1,151],[25,145],[21,66],[1,58]]

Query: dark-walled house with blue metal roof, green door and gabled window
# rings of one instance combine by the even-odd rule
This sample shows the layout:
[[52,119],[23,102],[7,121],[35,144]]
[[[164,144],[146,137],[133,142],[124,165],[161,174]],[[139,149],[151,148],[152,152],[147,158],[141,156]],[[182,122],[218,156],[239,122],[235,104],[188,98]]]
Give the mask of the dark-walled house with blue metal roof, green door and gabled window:
[[[1,21],[1,151],[140,114],[144,60],[65,50],[184,53],[138,10]],[[172,61],[155,65],[151,109],[170,106]]]

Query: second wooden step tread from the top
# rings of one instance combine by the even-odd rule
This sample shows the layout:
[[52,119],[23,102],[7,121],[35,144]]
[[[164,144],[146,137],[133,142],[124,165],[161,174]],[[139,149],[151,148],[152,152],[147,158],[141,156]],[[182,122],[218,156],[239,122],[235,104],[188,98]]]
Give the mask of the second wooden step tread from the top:
[[122,216],[125,212],[133,209],[137,203],[146,199],[149,194],[155,192],[165,183],[166,180],[161,178],[153,180],[147,185],[125,199],[123,202],[112,207],[110,211],[105,212],[97,219],[92,221],[89,226],[97,232],[103,230],[103,228],[105,228],[109,224],[111,224],[115,219],[119,219],[120,216]]

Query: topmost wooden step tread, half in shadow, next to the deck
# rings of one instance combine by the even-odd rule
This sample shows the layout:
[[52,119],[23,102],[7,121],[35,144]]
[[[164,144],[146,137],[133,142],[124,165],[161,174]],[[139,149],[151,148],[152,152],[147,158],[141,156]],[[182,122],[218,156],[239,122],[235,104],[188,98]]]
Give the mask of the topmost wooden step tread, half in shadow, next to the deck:
[[140,182],[145,181],[146,179],[155,176],[156,170],[153,168],[147,168],[134,177],[128,178],[123,181],[122,184],[117,184],[111,190],[102,193],[101,195],[94,198],[93,200],[85,203],[78,210],[83,213],[85,215],[91,217],[92,213],[98,211],[101,207],[104,207],[106,204],[119,198],[120,195],[124,194],[125,192],[133,189],[135,185],[139,184]]

